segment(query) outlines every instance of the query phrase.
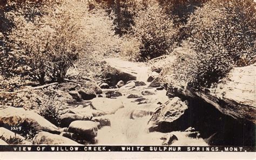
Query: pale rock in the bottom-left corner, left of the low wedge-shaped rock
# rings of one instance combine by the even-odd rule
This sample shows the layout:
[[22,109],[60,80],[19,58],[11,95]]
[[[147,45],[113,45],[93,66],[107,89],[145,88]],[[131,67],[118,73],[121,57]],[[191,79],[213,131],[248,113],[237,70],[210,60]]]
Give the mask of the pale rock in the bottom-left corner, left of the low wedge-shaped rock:
[[3,127],[0,127],[0,140],[1,139],[8,144],[31,144],[31,142],[26,141],[23,136]]

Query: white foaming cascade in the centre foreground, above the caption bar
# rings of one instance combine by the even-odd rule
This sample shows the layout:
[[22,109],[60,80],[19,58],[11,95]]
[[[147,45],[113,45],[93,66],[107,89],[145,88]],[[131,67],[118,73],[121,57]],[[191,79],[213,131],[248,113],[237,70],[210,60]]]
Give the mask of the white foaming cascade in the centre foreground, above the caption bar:
[[162,133],[149,133],[147,122],[150,115],[139,119],[131,119],[136,105],[128,105],[117,110],[115,114],[108,115],[111,127],[98,130],[98,144],[108,145],[160,145]]

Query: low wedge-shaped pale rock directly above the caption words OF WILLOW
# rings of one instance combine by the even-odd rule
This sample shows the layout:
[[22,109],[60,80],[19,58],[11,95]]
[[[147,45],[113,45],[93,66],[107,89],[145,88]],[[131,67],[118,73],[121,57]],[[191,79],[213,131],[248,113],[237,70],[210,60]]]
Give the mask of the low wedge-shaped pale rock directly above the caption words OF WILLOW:
[[33,144],[47,144],[47,145],[80,145],[79,143],[70,140],[69,138],[51,134],[46,131],[41,131],[33,138]]

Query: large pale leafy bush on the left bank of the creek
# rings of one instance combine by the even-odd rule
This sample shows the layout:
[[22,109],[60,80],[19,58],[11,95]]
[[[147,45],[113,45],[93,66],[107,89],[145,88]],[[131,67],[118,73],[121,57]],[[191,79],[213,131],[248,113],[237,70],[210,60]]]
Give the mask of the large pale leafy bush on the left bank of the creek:
[[[25,3],[30,4],[30,9],[34,9],[33,3]],[[15,26],[9,33],[9,46],[18,59],[25,59],[34,78],[41,84],[44,84],[46,76],[62,82],[80,55],[87,54],[91,46],[96,46],[94,44],[99,37],[94,36],[97,30],[90,30],[90,26],[95,25],[94,28],[99,30],[104,26],[103,23],[96,25],[96,20],[108,17],[97,19],[97,14],[89,12],[84,2],[45,3],[43,6],[41,12],[44,14],[32,18],[22,7],[8,12]]]

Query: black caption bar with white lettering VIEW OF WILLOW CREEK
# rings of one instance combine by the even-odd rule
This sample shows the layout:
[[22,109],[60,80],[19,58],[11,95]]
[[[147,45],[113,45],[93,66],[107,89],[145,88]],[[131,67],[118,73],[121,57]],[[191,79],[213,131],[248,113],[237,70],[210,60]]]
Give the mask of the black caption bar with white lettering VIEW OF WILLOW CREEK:
[[224,147],[224,146],[211,146],[211,147],[197,147],[197,146],[138,146],[138,145],[0,145],[0,151],[117,151],[117,152],[254,152],[254,147]]

